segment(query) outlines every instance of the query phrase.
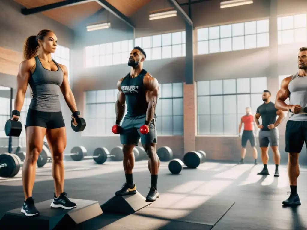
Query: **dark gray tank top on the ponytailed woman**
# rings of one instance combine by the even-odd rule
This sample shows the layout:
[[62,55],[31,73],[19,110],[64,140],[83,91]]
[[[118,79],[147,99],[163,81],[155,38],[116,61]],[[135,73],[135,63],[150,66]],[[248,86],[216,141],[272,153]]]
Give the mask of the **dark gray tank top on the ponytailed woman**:
[[32,89],[32,100],[29,108],[42,112],[60,112],[59,90],[63,82],[64,73],[58,63],[57,71],[50,71],[43,67],[38,56],[35,57],[36,67],[29,79]]

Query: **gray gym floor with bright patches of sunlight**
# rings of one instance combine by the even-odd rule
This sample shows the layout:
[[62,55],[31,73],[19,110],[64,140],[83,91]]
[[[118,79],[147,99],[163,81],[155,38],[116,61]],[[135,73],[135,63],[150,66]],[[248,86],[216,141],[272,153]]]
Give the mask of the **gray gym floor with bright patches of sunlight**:
[[[274,165],[268,166],[274,172]],[[197,169],[184,169],[173,175],[168,163],[161,162],[158,178],[160,198],[135,214],[102,214],[79,224],[78,229],[307,229],[307,198],[304,194],[307,168],[301,167],[298,193],[301,206],[283,208],[289,195],[286,166],[280,177],[259,176],[262,165],[206,162]],[[65,192],[76,199],[103,204],[125,182],[122,162],[103,165],[92,160],[65,162]],[[134,183],[146,196],[150,186],[147,161],[135,163]],[[21,170],[14,178],[0,178],[0,217],[8,210],[21,207],[24,201]],[[37,168],[33,198],[35,202],[52,199],[54,192],[51,163]]]

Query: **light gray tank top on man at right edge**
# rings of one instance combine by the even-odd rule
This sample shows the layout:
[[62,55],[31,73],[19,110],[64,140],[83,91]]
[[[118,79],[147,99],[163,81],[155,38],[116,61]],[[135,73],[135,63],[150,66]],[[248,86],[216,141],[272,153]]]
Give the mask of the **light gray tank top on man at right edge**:
[[[290,91],[290,105],[301,105],[307,107],[307,76],[300,77],[298,73],[292,76],[288,89]],[[294,114],[289,113],[290,121],[307,121],[307,113],[303,112]]]

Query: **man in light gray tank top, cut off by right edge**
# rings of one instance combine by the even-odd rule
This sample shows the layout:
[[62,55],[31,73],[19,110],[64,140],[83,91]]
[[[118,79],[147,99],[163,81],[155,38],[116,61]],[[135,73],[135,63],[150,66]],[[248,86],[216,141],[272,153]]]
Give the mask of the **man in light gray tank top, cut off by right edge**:
[[[300,174],[298,156],[302,147],[307,144],[307,47],[299,50],[298,73],[282,80],[277,93],[275,107],[289,111],[286,125],[286,152],[288,155],[288,176],[290,182],[290,197],[282,201],[283,205],[300,205],[297,194],[297,178]],[[289,98],[290,105],[285,103]]]

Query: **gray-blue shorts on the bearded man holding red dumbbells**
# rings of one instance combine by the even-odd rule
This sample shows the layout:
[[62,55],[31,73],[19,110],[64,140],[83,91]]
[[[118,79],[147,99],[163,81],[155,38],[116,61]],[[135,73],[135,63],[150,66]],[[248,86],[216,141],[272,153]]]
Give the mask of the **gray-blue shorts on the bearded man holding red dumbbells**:
[[142,144],[157,143],[157,130],[156,130],[156,118],[153,118],[150,122],[149,132],[142,134],[140,128],[145,124],[146,117],[144,118],[124,118],[122,121],[122,132],[120,133],[120,142],[122,144],[134,144],[138,145],[141,138]]

